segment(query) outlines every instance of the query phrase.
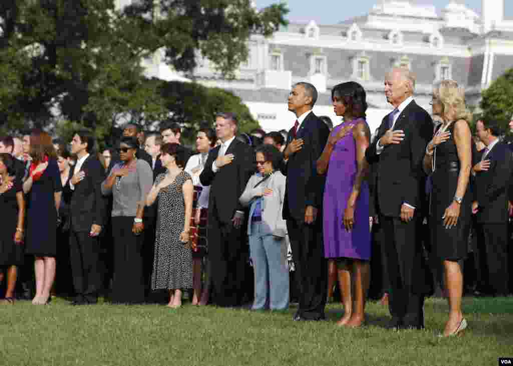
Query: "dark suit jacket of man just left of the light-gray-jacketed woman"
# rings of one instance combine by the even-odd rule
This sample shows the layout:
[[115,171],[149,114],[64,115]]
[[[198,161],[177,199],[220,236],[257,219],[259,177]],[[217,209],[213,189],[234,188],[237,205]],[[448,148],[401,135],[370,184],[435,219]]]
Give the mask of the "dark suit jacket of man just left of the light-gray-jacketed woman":
[[210,150],[205,168],[200,175],[201,184],[210,186],[209,215],[215,215],[224,224],[231,223],[235,211],[244,211],[239,198],[253,172],[253,150],[251,146],[235,139],[225,152],[235,158],[231,164],[221,167],[216,173],[212,163],[218,158],[220,146]]

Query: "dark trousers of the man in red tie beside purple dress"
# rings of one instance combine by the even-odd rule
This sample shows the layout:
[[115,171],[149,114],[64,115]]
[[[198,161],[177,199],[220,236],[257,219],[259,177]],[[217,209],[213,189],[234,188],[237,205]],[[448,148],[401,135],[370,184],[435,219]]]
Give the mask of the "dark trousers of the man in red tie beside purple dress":
[[328,261],[324,257],[322,216],[315,223],[287,220],[287,231],[299,283],[299,308],[304,319],[324,318],[328,290]]

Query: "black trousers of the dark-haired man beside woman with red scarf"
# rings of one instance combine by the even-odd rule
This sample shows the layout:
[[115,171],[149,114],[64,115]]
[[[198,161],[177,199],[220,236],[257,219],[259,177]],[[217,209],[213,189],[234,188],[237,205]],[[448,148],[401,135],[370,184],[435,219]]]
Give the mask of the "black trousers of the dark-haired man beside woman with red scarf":
[[100,239],[91,237],[89,232],[69,233],[69,258],[73,274],[73,287],[78,300],[89,303],[98,301],[101,286]]

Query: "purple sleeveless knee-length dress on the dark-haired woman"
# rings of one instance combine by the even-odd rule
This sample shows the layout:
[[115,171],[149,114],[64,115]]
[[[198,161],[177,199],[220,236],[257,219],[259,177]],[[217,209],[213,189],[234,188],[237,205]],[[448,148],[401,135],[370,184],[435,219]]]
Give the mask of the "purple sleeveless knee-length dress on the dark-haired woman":
[[[349,123],[344,122],[331,131],[337,134]],[[364,121],[365,122],[365,121]],[[365,122],[366,123],[366,122]],[[357,173],[356,142],[352,133],[340,139],[329,159],[324,188],[324,256],[326,258],[356,258],[370,260],[369,188],[362,183],[354,208],[354,226],[350,233],[344,228],[344,210]]]

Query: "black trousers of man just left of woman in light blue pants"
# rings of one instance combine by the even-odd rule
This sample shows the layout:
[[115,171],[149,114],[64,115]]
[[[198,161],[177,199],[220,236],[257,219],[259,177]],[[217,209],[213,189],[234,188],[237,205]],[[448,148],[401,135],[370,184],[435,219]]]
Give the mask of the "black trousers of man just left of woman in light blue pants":
[[219,221],[215,213],[208,218],[208,259],[211,302],[218,306],[242,305],[247,249],[243,228]]

